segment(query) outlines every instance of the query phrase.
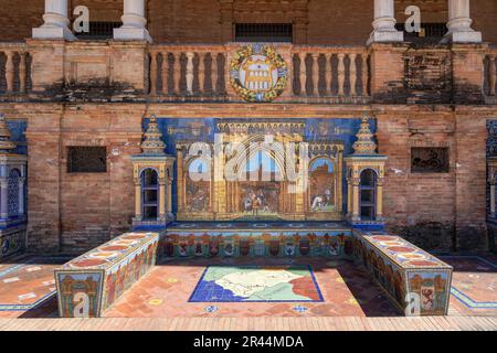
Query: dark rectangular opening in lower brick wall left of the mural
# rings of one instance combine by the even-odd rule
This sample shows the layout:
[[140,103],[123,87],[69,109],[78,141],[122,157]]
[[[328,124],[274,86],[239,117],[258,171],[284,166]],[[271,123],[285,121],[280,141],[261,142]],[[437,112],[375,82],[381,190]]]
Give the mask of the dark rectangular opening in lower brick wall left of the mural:
[[106,173],[107,149],[105,147],[68,147],[68,173]]

